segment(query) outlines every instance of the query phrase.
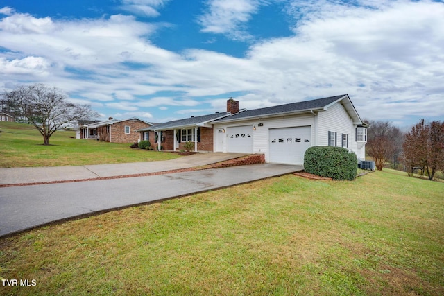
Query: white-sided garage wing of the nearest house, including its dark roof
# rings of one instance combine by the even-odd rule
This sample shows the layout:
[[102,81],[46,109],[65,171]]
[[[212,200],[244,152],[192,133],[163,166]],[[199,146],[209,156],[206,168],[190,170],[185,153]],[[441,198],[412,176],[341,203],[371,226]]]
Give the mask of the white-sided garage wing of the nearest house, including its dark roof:
[[265,161],[303,164],[311,146],[339,146],[365,159],[368,125],[347,94],[246,110],[211,122],[214,151],[264,153]]

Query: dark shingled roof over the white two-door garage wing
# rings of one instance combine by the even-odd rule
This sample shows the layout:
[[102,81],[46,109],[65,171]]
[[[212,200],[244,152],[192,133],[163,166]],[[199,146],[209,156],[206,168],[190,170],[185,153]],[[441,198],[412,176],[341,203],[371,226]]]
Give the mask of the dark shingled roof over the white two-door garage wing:
[[278,105],[273,107],[265,107],[260,109],[247,110],[244,112],[239,112],[237,114],[233,114],[232,116],[225,117],[223,119],[212,121],[212,123],[220,123],[225,121],[236,121],[239,119],[248,119],[252,117],[259,116],[271,116],[292,112],[299,112],[304,110],[316,110],[326,107],[335,101],[338,101],[343,96],[347,96],[346,94],[341,94],[340,96],[330,96],[328,98],[318,98],[316,100],[311,101],[303,101],[297,103],[289,103],[284,105]]

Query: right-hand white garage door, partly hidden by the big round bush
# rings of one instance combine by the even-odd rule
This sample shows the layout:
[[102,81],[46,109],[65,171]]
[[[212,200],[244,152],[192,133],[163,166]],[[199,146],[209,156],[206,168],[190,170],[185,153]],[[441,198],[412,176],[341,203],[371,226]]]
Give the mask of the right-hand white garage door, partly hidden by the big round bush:
[[304,153],[311,147],[311,127],[273,128],[269,130],[270,162],[304,164]]

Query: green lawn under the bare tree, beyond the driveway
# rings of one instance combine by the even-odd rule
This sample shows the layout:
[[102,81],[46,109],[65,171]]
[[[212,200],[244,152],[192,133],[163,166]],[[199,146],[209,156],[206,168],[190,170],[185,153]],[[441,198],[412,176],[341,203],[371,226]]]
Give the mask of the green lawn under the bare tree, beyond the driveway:
[[151,162],[179,157],[175,153],[129,148],[128,143],[74,139],[74,131],[59,131],[43,146],[43,138],[32,126],[0,122],[0,168],[17,166],[82,166]]

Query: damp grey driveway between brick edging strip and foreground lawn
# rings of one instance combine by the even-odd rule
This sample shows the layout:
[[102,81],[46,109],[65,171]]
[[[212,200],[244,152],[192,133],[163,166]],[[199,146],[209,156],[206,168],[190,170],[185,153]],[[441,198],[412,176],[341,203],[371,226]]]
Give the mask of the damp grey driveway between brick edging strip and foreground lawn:
[[[188,165],[185,164],[187,162],[184,166]],[[302,166],[253,164],[146,177],[3,187],[0,188],[0,236],[60,220],[178,198],[300,170]],[[122,168],[119,174],[123,171]],[[101,171],[101,174],[106,173],[110,171]]]

